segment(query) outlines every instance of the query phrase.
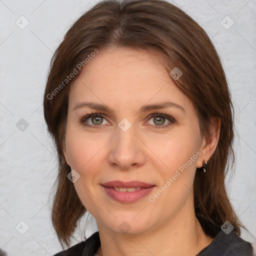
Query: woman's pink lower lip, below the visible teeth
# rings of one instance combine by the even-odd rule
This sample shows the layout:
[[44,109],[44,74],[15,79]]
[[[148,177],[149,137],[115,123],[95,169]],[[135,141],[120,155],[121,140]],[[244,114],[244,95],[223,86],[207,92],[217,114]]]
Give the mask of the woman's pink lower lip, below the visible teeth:
[[118,202],[122,202],[122,203],[131,203],[131,202],[135,202],[137,200],[139,200],[140,198],[146,196],[147,194],[149,194],[152,189],[154,188],[154,186],[150,186],[150,187],[141,187],[139,190],[135,190],[133,192],[120,192],[115,190],[113,187],[106,187],[106,186],[102,186],[107,195],[109,197],[111,197],[112,199],[118,201]]

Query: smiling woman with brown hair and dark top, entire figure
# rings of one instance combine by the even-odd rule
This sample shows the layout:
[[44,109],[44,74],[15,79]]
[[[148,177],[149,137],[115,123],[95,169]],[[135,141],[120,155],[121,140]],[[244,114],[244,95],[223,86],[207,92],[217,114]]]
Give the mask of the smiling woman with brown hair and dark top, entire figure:
[[232,104],[203,29],[162,0],[102,1],[54,53],[44,117],[59,161],[57,255],[252,255],[227,197]]

